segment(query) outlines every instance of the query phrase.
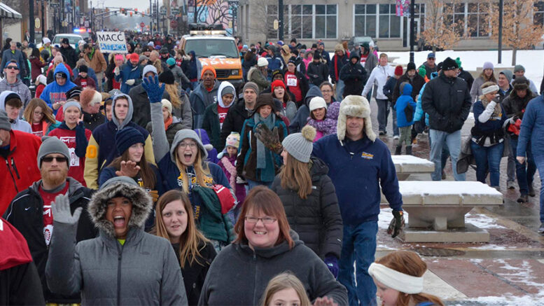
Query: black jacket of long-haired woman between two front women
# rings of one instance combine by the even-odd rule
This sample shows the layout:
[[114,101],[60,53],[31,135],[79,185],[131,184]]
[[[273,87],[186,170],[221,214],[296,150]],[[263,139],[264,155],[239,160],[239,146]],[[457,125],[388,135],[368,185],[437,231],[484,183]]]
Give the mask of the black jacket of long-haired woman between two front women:
[[[199,249],[202,248],[203,242],[200,242]],[[179,262],[179,244],[172,244],[174,252]],[[204,286],[204,279],[208,274],[209,266],[211,262],[216,258],[217,253],[214,246],[207,243],[204,248],[200,249],[200,257],[198,262],[190,265],[189,260],[186,260],[183,268],[181,268],[181,274],[183,274],[183,284],[185,284],[185,291],[187,294],[188,305],[198,305],[198,299],[200,298],[200,292],[202,286]]]

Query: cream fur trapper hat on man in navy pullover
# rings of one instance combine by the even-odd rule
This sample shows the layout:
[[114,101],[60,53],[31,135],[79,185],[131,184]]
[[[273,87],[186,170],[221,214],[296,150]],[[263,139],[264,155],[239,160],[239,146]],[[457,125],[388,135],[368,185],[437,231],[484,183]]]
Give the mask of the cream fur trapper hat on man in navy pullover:
[[336,127],[336,135],[340,141],[346,137],[346,118],[347,116],[365,119],[364,131],[366,137],[371,141],[376,140],[376,134],[372,131],[372,120],[370,119],[370,104],[365,97],[358,95],[349,95],[340,103],[340,113]]

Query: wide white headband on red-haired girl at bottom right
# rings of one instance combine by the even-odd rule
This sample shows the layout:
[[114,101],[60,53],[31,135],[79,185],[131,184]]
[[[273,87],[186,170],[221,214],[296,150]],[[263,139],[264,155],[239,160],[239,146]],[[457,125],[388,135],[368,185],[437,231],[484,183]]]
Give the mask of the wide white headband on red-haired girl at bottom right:
[[423,291],[423,277],[400,273],[379,263],[371,263],[368,274],[380,283],[408,294],[417,294]]

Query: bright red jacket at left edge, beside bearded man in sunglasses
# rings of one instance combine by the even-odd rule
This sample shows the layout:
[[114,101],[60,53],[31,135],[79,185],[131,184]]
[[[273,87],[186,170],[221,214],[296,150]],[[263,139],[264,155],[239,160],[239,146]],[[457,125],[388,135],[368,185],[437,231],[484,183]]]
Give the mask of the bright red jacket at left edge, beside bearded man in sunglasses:
[[[41,139],[33,134],[12,130],[9,152],[0,151],[0,215],[20,191],[41,179],[38,169],[38,150]],[[6,165],[7,164],[7,165]]]

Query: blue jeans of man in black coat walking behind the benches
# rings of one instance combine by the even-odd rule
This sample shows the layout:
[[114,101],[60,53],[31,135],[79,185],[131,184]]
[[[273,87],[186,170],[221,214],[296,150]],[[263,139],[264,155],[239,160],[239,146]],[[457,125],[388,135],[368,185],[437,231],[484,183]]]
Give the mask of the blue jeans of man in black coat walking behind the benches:
[[454,179],[456,181],[465,181],[465,174],[457,173],[457,160],[459,159],[459,153],[461,153],[461,130],[448,133],[430,129],[429,135],[433,139],[431,141],[430,159],[435,164],[435,171],[431,174],[431,179],[433,181],[440,181],[442,179],[442,147],[444,144],[447,144],[449,156],[452,158]]

